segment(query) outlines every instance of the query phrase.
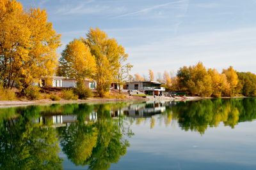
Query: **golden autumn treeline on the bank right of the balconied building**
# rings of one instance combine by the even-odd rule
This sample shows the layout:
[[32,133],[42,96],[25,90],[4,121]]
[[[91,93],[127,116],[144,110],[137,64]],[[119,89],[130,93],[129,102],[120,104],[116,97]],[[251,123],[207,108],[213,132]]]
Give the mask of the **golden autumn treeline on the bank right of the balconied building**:
[[[206,69],[202,62],[195,66],[180,67],[176,76],[164,71],[157,81],[163,83],[166,91],[187,92],[201,97],[256,96],[256,75],[250,72],[237,72],[232,66],[219,73],[216,69]],[[133,78],[133,77],[132,77]],[[135,74],[133,80],[154,80],[154,73],[149,76]]]

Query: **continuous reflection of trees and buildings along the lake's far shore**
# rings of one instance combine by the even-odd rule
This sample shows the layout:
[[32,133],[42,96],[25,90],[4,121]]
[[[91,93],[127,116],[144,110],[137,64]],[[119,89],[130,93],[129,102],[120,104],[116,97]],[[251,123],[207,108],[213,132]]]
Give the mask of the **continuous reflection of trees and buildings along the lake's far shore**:
[[149,121],[153,129],[174,120],[204,134],[221,122],[234,128],[255,118],[253,98],[1,108],[0,168],[63,169],[62,150],[76,166],[109,169],[127,152],[132,124]]

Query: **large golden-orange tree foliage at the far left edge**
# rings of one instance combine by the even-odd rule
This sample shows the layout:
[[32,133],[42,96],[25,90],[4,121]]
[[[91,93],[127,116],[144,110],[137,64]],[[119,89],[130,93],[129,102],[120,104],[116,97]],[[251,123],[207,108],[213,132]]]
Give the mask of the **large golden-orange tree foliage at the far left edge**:
[[58,63],[60,34],[47,22],[45,10],[23,10],[17,1],[0,3],[0,80],[25,89],[40,76],[52,75]]

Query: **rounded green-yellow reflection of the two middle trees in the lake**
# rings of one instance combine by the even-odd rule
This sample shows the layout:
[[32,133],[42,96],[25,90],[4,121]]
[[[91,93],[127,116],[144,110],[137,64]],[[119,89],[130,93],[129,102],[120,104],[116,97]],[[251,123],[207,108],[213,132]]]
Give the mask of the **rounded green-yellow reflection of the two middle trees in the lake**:
[[[86,115],[97,112],[97,121],[87,122]],[[125,155],[129,143],[124,139],[123,118],[111,118],[111,104],[79,105],[74,113],[77,122],[61,131],[61,146],[76,165],[88,165],[89,169],[108,169]]]

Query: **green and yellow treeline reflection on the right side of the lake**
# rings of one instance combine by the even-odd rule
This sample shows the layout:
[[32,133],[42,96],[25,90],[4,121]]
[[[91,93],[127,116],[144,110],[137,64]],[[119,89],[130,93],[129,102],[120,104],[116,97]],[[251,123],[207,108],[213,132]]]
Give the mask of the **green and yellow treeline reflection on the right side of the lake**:
[[[195,131],[200,134],[209,127],[218,127],[221,123],[235,128],[239,122],[248,122],[256,118],[256,99],[206,99],[200,101],[179,101],[175,104],[164,103],[165,111],[153,112],[151,117],[133,118],[135,124],[150,122],[150,129],[157,123],[168,127],[173,121],[184,131]],[[148,104],[145,104],[147,108]],[[149,108],[152,106],[149,106]],[[157,119],[157,120],[156,120]]]

